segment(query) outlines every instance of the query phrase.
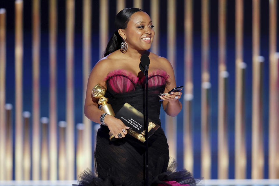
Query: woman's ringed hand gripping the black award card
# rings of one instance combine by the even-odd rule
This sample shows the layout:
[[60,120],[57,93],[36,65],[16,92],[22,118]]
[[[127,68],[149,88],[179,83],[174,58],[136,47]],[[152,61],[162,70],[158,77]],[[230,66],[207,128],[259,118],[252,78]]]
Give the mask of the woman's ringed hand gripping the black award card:
[[[128,133],[128,129],[130,128],[124,125],[120,119],[117,119],[112,115],[106,115],[104,123],[108,126],[108,129],[110,129],[110,132],[115,136],[115,138],[119,138],[119,133],[121,133],[122,137],[125,137]],[[122,129],[124,129],[124,131]]]

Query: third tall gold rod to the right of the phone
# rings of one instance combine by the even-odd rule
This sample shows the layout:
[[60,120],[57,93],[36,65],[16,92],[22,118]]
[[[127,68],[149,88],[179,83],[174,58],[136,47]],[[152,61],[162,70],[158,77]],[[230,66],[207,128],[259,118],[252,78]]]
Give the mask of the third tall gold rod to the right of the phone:
[[226,103],[226,0],[219,0],[219,70],[218,70],[218,179],[228,179],[229,153]]

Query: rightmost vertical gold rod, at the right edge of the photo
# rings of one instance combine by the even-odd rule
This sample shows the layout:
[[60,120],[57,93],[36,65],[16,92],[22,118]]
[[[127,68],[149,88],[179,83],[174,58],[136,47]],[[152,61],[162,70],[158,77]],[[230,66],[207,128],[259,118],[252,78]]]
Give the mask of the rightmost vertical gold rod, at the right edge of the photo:
[[[277,0],[269,0],[269,179],[279,178],[279,69],[276,59]],[[276,163],[277,161],[277,163]]]

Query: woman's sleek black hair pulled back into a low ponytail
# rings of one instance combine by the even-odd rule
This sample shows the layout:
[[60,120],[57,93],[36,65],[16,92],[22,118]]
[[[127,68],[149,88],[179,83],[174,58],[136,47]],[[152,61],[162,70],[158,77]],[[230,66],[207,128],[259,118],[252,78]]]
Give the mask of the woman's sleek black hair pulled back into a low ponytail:
[[125,29],[130,20],[130,17],[135,12],[143,11],[140,8],[125,8],[121,10],[115,17],[114,25],[116,31],[112,34],[110,41],[108,42],[107,48],[104,52],[104,57],[108,56],[110,53],[120,49],[120,44],[123,41],[122,37],[118,33],[118,29]]

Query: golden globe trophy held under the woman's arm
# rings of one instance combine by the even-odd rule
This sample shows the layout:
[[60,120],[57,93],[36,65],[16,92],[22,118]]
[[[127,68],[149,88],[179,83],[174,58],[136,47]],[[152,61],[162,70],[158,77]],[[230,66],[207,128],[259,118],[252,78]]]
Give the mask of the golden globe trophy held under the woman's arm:
[[[108,98],[105,97],[105,87],[100,84],[95,85],[92,89],[92,95],[94,98],[99,99],[98,104],[101,105],[101,110],[109,115],[115,116],[115,113],[110,104],[108,104]],[[116,138],[112,132],[108,133],[110,135],[110,141],[115,141]]]

